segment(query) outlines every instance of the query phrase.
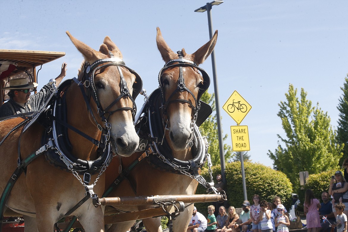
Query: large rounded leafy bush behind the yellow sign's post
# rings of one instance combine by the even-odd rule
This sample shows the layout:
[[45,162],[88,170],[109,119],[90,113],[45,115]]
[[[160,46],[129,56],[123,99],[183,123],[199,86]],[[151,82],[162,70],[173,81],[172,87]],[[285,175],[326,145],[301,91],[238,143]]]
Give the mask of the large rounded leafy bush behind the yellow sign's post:
[[[272,201],[274,196],[279,196],[282,203],[287,209],[291,208],[292,198],[292,184],[286,175],[280,171],[276,171],[270,167],[264,166],[260,163],[244,162],[245,182],[248,200],[253,204],[252,197],[258,194],[261,199]],[[221,173],[220,165],[212,167],[212,175],[215,179],[216,175]],[[202,176],[209,182],[210,177],[207,169],[202,170]],[[242,169],[240,162],[231,162],[226,165],[226,181],[225,188],[228,205],[240,208],[244,200]],[[198,185],[196,194],[204,194],[205,188]],[[196,203],[197,210],[206,214],[207,203]],[[215,209],[216,210],[216,209]],[[204,214],[204,215],[205,215]],[[205,215],[207,216],[207,215]]]

